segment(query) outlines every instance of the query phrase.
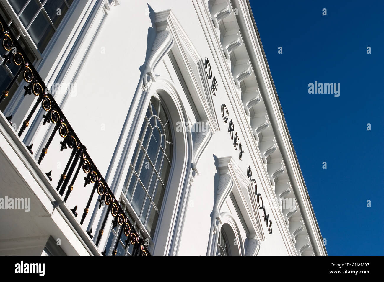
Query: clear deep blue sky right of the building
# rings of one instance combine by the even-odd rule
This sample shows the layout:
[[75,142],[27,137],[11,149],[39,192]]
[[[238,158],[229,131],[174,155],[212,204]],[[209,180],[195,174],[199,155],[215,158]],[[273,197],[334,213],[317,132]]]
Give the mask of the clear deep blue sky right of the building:
[[384,255],[384,2],[250,3],[328,254]]

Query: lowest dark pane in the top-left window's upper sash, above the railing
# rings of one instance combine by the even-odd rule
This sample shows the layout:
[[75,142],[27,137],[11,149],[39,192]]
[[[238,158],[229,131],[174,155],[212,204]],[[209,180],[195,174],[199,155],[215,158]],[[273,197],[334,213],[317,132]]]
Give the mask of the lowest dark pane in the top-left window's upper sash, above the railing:
[[31,35],[39,51],[43,53],[55,30],[53,30],[44,13],[40,12],[28,29],[28,33]]

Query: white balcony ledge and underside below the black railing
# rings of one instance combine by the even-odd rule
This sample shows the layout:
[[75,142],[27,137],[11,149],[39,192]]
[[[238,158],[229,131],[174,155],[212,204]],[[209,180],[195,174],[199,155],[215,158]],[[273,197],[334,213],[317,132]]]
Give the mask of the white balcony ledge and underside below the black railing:
[[2,113],[0,175],[0,198],[30,198],[29,212],[0,209],[0,255],[31,254],[28,247],[10,249],[9,241],[48,234],[60,239],[67,255],[101,255]]

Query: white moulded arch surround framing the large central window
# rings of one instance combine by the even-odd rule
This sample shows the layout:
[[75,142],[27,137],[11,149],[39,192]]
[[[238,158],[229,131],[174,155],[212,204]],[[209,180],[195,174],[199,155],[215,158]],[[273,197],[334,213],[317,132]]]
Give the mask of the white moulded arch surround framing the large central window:
[[[184,93],[181,93],[184,95]],[[121,169],[121,178],[119,189],[121,191],[121,200],[126,204],[124,195],[124,179],[127,175],[127,170],[134,154],[137,139],[139,137],[142,122],[146,114],[147,107],[151,101],[151,97],[158,97],[163,104],[167,107],[169,120],[172,124],[172,165],[169,172],[166,190],[163,197],[162,207],[157,221],[156,231],[149,242],[152,246],[149,250],[154,255],[169,254],[172,248],[177,245],[180,240],[177,229],[182,224],[184,219],[184,210],[187,197],[189,196],[189,180],[192,173],[192,134],[191,132],[181,131],[177,132],[176,122],[187,120],[185,109],[180,101],[179,93],[174,84],[166,77],[157,76],[156,81],[152,81],[151,87],[145,92],[139,101],[136,115],[137,119],[131,125],[131,135],[129,143],[126,144],[128,150],[124,154],[125,168]],[[134,212],[132,207],[127,204],[127,210],[132,214],[135,219],[139,216]],[[140,222],[140,220],[138,220]],[[137,226],[145,237],[149,238],[144,226],[140,223]]]

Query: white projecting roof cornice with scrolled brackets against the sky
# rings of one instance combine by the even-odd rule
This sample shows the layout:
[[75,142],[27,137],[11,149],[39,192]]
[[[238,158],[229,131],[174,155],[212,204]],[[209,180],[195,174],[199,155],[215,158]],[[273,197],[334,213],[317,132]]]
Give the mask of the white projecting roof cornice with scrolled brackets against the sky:
[[[281,206],[280,216],[291,244],[300,255],[326,255],[321,233],[286,127],[276,89],[247,0],[194,1],[210,26],[224,79],[232,77],[228,91],[254,157],[263,160],[269,187],[280,204],[293,200],[294,208]],[[208,32],[209,33],[209,32]],[[221,49],[221,50],[220,50]],[[224,68],[223,68],[224,66]],[[252,136],[253,135],[253,136]],[[251,138],[254,137],[254,138]]]

